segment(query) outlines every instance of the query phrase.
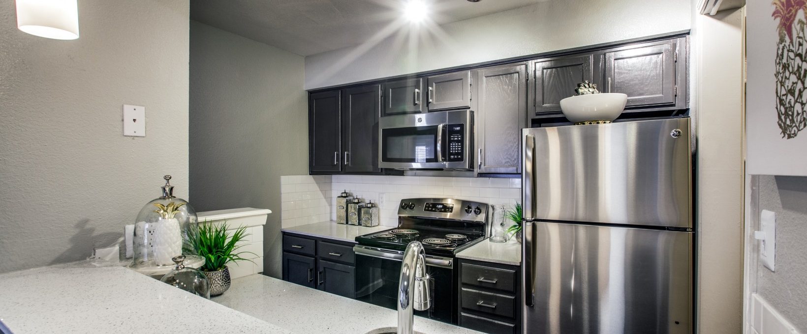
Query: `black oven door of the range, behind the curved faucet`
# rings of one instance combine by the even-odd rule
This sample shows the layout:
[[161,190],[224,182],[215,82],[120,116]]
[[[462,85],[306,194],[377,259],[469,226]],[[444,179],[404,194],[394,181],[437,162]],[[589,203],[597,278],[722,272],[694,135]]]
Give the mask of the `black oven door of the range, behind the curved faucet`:
[[[357,245],[356,299],[381,307],[397,309],[399,279],[403,252]],[[431,307],[415,311],[415,315],[457,324],[454,315],[457,296],[454,295],[454,259],[427,256]]]

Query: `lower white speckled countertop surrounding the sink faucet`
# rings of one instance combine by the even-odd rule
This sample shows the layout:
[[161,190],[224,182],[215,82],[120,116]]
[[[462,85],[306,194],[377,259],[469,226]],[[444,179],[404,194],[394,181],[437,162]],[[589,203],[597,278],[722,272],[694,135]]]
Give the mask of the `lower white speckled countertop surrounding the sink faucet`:
[[[230,290],[213,301],[295,333],[364,334],[398,324],[395,310],[261,274],[234,279]],[[479,333],[420,316],[415,317],[414,330],[424,334]]]

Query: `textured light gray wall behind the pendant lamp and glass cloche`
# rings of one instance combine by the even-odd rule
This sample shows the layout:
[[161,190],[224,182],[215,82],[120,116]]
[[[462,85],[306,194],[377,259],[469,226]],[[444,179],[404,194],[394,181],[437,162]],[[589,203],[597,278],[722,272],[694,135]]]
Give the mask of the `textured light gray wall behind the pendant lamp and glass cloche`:
[[[17,30],[0,0],[0,272],[90,256],[162,175],[188,190],[187,0],[80,1],[81,38]],[[123,104],[146,107],[123,137]]]

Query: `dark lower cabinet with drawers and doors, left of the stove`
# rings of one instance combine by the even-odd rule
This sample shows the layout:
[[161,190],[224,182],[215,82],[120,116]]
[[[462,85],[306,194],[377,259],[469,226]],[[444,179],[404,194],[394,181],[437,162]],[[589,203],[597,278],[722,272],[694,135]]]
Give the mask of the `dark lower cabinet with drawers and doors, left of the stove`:
[[353,244],[284,232],[283,280],[356,298]]

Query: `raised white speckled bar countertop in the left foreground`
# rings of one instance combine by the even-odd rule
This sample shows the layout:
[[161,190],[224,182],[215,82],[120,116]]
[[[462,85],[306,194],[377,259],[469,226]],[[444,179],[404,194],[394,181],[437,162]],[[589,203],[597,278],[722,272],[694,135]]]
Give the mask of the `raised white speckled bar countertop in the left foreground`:
[[123,266],[0,275],[0,328],[27,333],[291,333]]

